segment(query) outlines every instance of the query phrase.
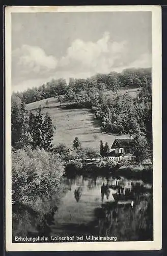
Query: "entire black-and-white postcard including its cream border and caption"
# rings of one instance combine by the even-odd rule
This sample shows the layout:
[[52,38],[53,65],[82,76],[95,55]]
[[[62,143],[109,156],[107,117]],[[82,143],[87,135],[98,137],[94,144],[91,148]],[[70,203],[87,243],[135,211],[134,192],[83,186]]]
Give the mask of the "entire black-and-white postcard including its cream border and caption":
[[160,249],[160,13],[7,7],[9,249]]

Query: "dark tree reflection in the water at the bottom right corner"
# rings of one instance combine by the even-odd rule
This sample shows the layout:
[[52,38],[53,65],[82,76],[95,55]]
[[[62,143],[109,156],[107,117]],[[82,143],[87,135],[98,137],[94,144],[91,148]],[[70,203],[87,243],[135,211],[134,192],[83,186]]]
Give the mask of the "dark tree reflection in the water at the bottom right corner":
[[96,234],[117,236],[118,241],[153,239],[153,200],[138,197],[134,206],[117,202],[102,203],[94,211]]

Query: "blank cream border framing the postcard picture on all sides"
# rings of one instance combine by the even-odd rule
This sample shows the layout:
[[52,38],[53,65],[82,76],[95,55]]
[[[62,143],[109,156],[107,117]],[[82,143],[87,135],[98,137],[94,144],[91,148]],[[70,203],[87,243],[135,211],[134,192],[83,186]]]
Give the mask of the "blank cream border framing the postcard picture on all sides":
[[[154,241],[12,243],[11,190],[11,14],[13,12],[152,12],[152,115],[153,115],[153,226]],[[7,251],[99,251],[158,250],[162,241],[162,125],[161,125],[161,7],[160,6],[45,6],[5,8],[6,63],[6,250]]]

